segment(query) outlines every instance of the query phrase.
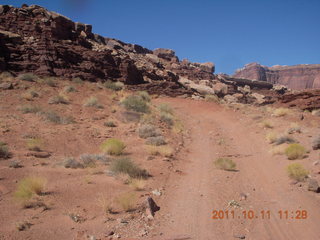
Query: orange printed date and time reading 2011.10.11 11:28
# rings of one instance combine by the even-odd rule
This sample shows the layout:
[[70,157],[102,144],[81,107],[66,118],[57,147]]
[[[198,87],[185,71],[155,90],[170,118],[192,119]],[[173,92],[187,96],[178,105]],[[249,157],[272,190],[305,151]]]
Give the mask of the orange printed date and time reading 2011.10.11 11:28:
[[308,218],[307,210],[279,210],[276,214],[271,214],[270,210],[243,210],[243,211],[234,211],[234,210],[213,210],[212,219],[214,220],[223,220],[223,219],[271,219],[272,217],[277,217],[278,219],[283,220],[304,220]]

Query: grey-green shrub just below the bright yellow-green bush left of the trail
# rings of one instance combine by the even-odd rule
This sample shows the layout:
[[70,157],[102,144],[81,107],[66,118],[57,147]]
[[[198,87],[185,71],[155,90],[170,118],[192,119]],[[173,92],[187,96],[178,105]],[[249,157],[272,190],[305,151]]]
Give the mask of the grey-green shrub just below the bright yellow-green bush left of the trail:
[[145,169],[141,169],[129,158],[118,158],[111,162],[110,170],[116,174],[127,174],[132,178],[147,178],[149,176]]

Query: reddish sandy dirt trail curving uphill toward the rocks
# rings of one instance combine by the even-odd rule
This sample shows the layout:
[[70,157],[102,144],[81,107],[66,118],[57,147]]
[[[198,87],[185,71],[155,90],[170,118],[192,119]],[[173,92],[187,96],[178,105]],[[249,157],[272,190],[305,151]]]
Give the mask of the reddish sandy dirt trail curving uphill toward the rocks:
[[[177,166],[183,174],[170,177],[160,200],[157,231],[164,239],[320,239],[319,199],[290,184],[285,171],[290,162],[268,152],[251,119],[213,103],[159,101],[172,105],[190,131],[187,154]],[[230,157],[239,171],[215,169],[218,157]],[[229,207],[231,200],[241,208]],[[213,220],[213,210],[234,210],[235,217]],[[249,210],[254,218],[244,219],[242,212]],[[279,210],[288,210],[288,219],[280,219]],[[307,219],[294,219],[301,210]],[[262,219],[261,211],[270,211],[270,219]]]

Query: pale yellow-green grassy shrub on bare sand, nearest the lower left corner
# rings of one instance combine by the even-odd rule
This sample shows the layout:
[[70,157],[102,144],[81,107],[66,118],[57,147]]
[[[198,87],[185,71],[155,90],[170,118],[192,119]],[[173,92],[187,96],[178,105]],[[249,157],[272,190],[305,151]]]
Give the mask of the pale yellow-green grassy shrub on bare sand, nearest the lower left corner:
[[47,180],[42,177],[26,177],[18,182],[14,197],[22,202],[30,200],[34,195],[43,193]]

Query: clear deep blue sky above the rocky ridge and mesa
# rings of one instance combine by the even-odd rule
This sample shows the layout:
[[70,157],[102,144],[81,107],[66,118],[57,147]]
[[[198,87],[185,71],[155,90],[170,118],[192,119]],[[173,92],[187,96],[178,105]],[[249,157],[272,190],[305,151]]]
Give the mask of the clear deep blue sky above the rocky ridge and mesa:
[[320,0],[0,0],[37,4],[93,32],[232,74],[262,65],[320,63]]

